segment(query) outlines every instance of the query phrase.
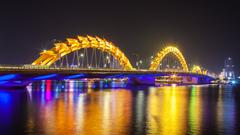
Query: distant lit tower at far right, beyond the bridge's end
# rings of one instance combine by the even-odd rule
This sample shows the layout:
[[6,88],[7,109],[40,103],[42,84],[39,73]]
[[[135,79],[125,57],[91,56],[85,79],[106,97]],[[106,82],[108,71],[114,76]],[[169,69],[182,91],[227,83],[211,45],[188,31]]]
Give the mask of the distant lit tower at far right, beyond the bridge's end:
[[234,68],[234,65],[233,65],[233,62],[232,62],[232,58],[229,57],[224,62],[223,73],[224,73],[224,78],[225,79],[227,79],[229,81],[235,79],[233,68]]

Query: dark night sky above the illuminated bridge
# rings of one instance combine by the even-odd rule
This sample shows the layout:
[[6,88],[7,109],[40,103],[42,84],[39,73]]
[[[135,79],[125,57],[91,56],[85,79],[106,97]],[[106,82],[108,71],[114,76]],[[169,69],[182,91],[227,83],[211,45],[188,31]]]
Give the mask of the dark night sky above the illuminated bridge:
[[235,2],[8,2],[0,5],[0,64],[26,64],[54,39],[98,35],[132,57],[176,42],[187,62],[219,72],[240,69],[240,8]]

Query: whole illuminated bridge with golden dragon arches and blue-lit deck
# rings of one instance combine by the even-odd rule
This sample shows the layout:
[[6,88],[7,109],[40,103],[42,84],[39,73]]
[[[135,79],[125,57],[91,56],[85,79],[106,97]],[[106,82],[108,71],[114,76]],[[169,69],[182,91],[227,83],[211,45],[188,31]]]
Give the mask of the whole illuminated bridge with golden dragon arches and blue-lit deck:
[[[168,55],[177,60],[174,66],[165,60]],[[128,83],[144,85],[154,85],[166,77],[182,84],[209,84],[215,79],[200,66],[190,69],[174,45],[160,50],[149,64],[149,69],[136,69],[112,42],[99,37],[77,36],[54,43],[53,48],[43,50],[32,64],[0,66],[0,87],[24,87],[38,80],[83,78],[127,78]]]

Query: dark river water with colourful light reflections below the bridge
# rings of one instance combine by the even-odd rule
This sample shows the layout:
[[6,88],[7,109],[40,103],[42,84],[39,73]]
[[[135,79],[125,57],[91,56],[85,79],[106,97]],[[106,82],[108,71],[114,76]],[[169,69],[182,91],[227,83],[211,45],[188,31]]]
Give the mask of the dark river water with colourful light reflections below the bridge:
[[[240,90],[176,86],[95,88],[42,81],[0,91],[4,134],[237,134]],[[98,84],[97,84],[98,85]],[[104,83],[101,85],[105,85]],[[108,83],[108,85],[110,85]],[[120,87],[120,88],[119,88]],[[15,129],[15,130],[12,130]]]

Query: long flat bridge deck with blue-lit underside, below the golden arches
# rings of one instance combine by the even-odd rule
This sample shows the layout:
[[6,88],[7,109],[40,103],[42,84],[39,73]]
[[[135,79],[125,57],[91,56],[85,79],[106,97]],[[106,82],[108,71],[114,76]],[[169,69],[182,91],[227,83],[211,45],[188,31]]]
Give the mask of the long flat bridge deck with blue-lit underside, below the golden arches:
[[[204,74],[196,74],[182,71],[151,71],[151,70],[113,70],[113,69],[76,69],[76,68],[48,68],[28,69],[22,67],[0,68],[0,87],[26,86],[36,80],[65,80],[82,78],[125,78],[137,80],[142,84],[154,84],[157,76],[178,75],[198,78],[201,83],[209,83],[214,78]],[[201,79],[202,78],[202,79]],[[186,80],[186,79],[185,79]],[[191,79],[192,80],[192,79]],[[196,80],[196,79],[195,79]],[[195,81],[197,83],[197,81]]]

